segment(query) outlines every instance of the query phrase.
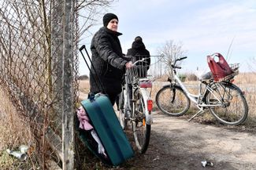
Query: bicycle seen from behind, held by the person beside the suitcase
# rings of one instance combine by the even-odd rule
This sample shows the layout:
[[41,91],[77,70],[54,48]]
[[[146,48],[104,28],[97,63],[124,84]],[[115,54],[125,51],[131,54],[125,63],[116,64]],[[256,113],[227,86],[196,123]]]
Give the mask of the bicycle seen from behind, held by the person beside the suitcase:
[[[147,90],[152,87],[152,83],[149,78],[140,78],[143,72],[147,73],[146,67],[135,66],[143,60],[133,63],[133,67],[124,74],[125,82],[119,96],[118,107],[120,124],[125,129],[128,127],[128,122],[131,123],[135,144],[140,154],[147,151],[150,143],[153,107],[150,92]],[[138,72],[138,68],[141,72]]]

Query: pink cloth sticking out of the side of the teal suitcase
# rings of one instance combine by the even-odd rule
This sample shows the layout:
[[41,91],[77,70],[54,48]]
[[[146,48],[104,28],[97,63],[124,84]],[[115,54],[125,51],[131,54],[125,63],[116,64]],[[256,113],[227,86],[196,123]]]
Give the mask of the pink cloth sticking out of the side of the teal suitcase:
[[78,110],[76,110],[77,118],[80,121],[79,128],[82,128],[84,130],[91,130],[93,129],[92,125],[90,124],[90,119],[87,116],[86,111],[83,109],[83,107],[79,107]]

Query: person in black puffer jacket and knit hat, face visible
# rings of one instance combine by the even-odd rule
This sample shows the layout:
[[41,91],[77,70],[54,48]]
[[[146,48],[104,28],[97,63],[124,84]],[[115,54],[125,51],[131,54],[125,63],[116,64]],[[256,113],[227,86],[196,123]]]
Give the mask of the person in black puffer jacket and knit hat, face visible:
[[[125,69],[132,67],[132,62],[124,58],[117,32],[118,18],[113,13],[103,16],[103,25],[91,40],[91,62],[95,67],[90,74],[90,93],[106,92],[112,105],[121,92],[121,82]],[[95,73],[96,72],[96,73]],[[97,85],[98,74],[102,86]]]

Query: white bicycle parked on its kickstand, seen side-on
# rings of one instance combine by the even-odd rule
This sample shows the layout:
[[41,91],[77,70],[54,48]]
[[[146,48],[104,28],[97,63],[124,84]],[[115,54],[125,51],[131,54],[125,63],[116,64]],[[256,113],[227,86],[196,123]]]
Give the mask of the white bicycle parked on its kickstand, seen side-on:
[[[214,55],[216,54],[211,56]],[[241,89],[232,84],[234,77],[239,72],[239,64],[231,65],[232,74],[220,81],[214,81],[211,72],[202,75],[202,78],[199,79],[198,95],[195,95],[187,90],[176,73],[176,69],[181,69],[176,66],[176,62],[186,58],[178,58],[171,64],[174,78],[168,78],[170,85],[165,85],[158,91],[156,95],[158,108],[165,114],[181,116],[187,112],[193,102],[199,110],[188,121],[208,109],[213,117],[224,125],[243,123],[248,115],[247,100]]]

